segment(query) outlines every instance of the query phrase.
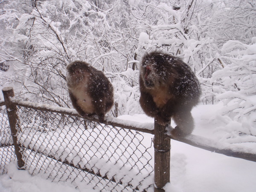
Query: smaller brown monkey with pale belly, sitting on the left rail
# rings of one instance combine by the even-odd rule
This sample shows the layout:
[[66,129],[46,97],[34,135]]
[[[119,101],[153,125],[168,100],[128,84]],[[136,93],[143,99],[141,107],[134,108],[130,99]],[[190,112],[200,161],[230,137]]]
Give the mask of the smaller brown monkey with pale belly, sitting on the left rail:
[[102,71],[83,61],[67,66],[67,88],[73,107],[81,116],[98,115],[99,121],[113,106],[113,87]]

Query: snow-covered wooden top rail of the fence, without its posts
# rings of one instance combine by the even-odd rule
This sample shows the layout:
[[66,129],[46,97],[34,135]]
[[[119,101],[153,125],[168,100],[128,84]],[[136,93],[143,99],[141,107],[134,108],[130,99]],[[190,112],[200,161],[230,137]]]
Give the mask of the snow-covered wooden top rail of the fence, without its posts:
[[[14,97],[11,98],[11,102],[17,106],[23,106],[31,109],[37,109],[41,111],[55,112],[75,117],[81,117],[78,115],[75,109],[56,107],[48,104],[32,103],[28,101],[18,100]],[[95,121],[99,123],[99,119],[96,117],[82,117],[85,120]],[[106,116],[104,122],[106,125],[116,126],[124,129],[131,129],[139,132],[150,133],[154,135],[154,123],[139,123],[131,120],[121,120],[116,117]],[[171,129],[171,127],[169,127]],[[169,130],[170,130],[169,129]],[[168,134],[168,133],[167,133]],[[244,146],[237,146],[235,144],[223,143],[215,141],[209,138],[204,138],[197,135],[189,135],[185,138],[172,138],[171,135],[167,137],[195,146],[201,149],[205,149],[211,152],[227,155],[230,157],[241,158],[256,162],[256,149],[250,149]]]

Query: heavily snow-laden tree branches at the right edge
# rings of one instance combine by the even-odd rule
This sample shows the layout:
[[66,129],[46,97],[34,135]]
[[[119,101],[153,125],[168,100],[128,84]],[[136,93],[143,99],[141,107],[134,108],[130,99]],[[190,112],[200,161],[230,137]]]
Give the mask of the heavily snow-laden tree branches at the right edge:
[[[213,91],[224,101],[220,128],[230,142],[256,142],[256,37],[245,44],[229,40],[221,49],[223,68],[213,73]],[[241,137],[239,137],[241,136]]]

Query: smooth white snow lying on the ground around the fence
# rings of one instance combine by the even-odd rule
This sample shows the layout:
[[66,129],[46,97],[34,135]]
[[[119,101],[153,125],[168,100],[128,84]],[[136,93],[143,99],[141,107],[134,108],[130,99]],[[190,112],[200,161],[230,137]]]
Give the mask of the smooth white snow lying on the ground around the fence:
[[[193,109],[193,134],[218,140],[218,121],[214,120],[221,104],[200,105]],[[123,115],[120,119],[151,123],[145,115]],[[244,146],[252,147],[251,143]],[[209,152],[175,140],[171,141],[171,182],[166,192],[255,192],[256,163]],[[253,145],[254,146],[254,145]],[[152,154],[153,155],[153,154]],[[17,170],[10,163],[8,173],[0,175],[0,192],[97,192],[93,186],[75,186],[51,180],[40,175],[31,176],[26,170]]]

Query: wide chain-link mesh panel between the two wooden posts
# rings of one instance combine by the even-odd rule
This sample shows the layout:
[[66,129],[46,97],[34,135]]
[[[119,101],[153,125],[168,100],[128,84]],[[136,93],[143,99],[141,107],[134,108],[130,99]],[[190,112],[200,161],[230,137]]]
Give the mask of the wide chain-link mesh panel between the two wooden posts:
[[152,135],[21,106],[18,116],[18,144],[32,175],[102,192],[154,190]]

